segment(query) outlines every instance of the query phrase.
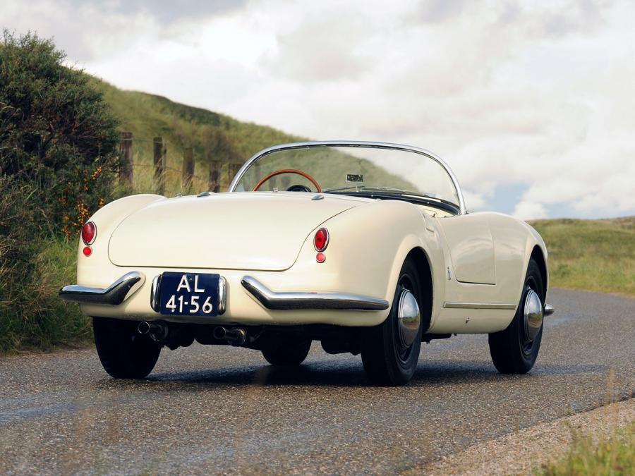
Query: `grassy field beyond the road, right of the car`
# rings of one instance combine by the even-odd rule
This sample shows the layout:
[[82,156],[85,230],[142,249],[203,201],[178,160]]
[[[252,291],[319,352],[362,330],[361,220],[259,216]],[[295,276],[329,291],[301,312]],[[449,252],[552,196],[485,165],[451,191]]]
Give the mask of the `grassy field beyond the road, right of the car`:
[[550,286],[635,296],[635,216],[532,226],[547,244]]

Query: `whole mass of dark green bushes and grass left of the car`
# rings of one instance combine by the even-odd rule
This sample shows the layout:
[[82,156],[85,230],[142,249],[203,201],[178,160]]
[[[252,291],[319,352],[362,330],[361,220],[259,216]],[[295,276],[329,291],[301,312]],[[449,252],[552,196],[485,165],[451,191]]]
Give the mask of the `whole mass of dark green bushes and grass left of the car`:
[[80,227],[111,198],[119,135],[90,78],[63,61],[37,35],[0,39],[0,352],[90,336],[57,292],[75,281]]

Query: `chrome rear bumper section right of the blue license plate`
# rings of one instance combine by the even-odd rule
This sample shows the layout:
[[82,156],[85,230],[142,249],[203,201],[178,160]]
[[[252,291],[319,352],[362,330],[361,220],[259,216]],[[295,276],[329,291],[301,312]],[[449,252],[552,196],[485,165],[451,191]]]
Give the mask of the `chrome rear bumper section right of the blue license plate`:
[[310,291],[271,291],[252,276],[243,276],[241,284],[260,304],[271,310],[332,309],[382,311],[387,300],[346,293],[315,293]]

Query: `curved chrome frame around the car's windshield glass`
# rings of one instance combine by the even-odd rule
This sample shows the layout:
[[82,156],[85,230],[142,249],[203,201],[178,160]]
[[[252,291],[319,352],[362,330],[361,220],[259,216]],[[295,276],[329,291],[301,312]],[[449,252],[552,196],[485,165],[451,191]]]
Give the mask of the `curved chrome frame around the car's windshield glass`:
[[415,154],[423,155],[424,157],[428,157],[428,159],[433,159],[433,161],[437,162],[440,166],[443,167],[444,171],[448,174],[449,178],[452,180],[452,184],[454,185],[454,189],[456,190],[456,196],[459,197],[459,214],[464,215],[466,213],[465,201],[463,198],[463,192],[461,192],[461,185],[459,185],[459,181],[456,180],[456,176],[454,176],[454,172],[449,168],[448,164],[445,163],[441,157],[438,157],[433,152],[429,150],[421,149],[419,147],[413,147],[411,145],[402,145],[402,144],[392,144],[390,142],[367,142],[363,140],[321,140],[321,141],[313,141],[313,142],[289,142],[288,144],[279,144],[274,145],[272,147],[267,147],[266,149],[262,149],[260,152],[253,154],[238,170],[234,180],[229,184],[228,192],[232,193],[236,191],[236,187],[238,183],[241,181],[246,171],[253,165],[255,161],[265,157],[274,152],[280,152],[282,150],[292,150],[292,149],[308,149],[310,147],[366,147],[369,149],[388,149],[388,150],[401,150],[403,152],[414,152]]

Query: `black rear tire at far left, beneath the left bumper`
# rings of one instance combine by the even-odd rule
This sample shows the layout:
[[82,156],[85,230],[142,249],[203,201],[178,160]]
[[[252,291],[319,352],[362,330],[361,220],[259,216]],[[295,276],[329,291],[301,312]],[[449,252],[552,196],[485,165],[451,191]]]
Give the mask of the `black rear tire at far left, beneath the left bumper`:
[[161,345],[137,332],[138,322],[93,317],[97,355],[116,379],[144,379],[159,359]]

